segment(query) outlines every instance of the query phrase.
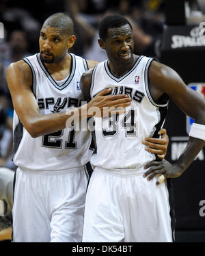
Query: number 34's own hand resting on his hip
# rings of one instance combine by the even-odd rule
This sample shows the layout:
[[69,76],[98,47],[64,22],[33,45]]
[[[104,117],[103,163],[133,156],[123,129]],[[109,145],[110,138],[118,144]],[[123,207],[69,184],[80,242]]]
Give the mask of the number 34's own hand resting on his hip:
[[[164,176],[161,181],[165,178],[177,178],[182,175],[182,168],[178,164],[170,164],[167,160],[163,159],[160,162],[152,161],[144,166],[144,169],[148,169],[143,177],[147,177],[148,181],[153,179],[154,177]],[[159,181],[156,181],[156,185],[159,185]]]

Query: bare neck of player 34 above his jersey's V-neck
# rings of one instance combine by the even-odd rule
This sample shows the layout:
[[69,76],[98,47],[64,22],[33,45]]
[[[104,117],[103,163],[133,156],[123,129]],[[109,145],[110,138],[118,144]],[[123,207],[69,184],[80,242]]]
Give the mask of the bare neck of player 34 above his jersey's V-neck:
[[126,74],[128,71],[133,68],[136,60],[138,59],[139,56],[133,54],[133,58],[131,62],[123,62],[120,64],[119,62],[113,62],[112,60],[109,60],[108,66],[110,69],[110,72],[115,76],[115,77],[122,77],[124,74]]

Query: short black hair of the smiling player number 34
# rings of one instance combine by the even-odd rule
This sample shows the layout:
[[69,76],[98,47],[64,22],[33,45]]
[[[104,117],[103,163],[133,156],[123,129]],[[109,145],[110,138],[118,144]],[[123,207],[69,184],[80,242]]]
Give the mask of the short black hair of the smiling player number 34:
[[100,39],[105,41],[108,38],[108,29],[113,29],[115,27],[122,27],[126,24],[128,24],[131,27],[131,29],[133,30],[131,23],[123,16],[121,16],[121,15],[105,16],[105,18],[103,18],[99,24]]

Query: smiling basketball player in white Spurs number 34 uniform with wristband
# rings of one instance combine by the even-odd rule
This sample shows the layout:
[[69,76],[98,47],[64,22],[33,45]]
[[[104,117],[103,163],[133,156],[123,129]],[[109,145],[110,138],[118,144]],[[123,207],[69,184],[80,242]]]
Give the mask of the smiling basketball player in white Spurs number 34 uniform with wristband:
[[[205,102],[172,68],[133,54],[133,31],[124,17],[106,16],[99,35],[108,60],[81,77],[83,94],[93,99],[109,87],[133,101],[124,116],[94,118],[96,168],[87,189],[83,242],[172,242],[167,182],[161,178],[182,175],[204,146]],[[141,144],[163,125],[169,97],[196,123],[176,164],[154,161]],[[150,167],[145,174],[144,166]]]

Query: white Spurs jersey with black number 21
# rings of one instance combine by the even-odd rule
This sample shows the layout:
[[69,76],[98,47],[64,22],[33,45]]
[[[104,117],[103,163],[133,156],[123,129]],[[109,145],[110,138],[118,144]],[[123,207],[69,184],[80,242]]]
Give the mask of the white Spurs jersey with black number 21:
[[[83,94],[79,88],[81,75],[87,71],[86,61],[72,53],[72,68],[65,81],[55,81],[40,60],[40,53],[25,58],[33,75],[33,94],[40,114],[65,112],[79,107]],[[90,161],[90,131],[63,129],[32,138],[14,111],[14,164],[31,170],[64,170],[83,166]]]

